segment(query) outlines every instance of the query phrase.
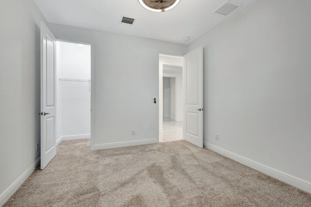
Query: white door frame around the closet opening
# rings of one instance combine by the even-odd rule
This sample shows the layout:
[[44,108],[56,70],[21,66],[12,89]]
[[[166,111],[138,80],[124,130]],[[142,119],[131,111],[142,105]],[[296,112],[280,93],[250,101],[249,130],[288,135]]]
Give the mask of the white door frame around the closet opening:
[[[91,90],[91,150],[95,150],[93,149],[92,146],[94,146],[95,141],[94,141],[94,94],[95,94],[95,88],[94,88],[94,43],[93,42],[87,42],[87,41],[74,41],[74,40],[69,40],[66,38],[56,38],[56,41],[60,41],[60,42],[68,42],[68,43],[72,43],[72,44],[83,44],[83,45],[89,45],[91,47],[91,84],[90,84],[90,90]],[[60,140],[61,142],[62,140]],[[59,142],[59,143],[60,143]],[[58,143],[58,144],[59,144]],[[57,144],[57,145],[58,145]]]

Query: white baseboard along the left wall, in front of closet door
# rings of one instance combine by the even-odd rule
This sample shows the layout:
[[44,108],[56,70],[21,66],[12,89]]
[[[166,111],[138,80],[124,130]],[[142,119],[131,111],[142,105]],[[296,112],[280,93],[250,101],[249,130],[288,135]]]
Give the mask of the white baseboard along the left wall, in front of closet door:
[[20,175],[4,192],[0,195],[0,206],[3,206],[7,200],[17,191],[17,189],[25,182],[25,180],[34,172],[35,167],[38,166],[40,158],[35,160],[22,175]]

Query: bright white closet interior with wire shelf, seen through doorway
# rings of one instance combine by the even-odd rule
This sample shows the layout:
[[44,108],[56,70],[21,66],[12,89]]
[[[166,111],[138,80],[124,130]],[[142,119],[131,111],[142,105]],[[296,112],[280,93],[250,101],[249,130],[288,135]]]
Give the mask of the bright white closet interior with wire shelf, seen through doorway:
[[91,137],[91,45],[56,43],[56,137]]

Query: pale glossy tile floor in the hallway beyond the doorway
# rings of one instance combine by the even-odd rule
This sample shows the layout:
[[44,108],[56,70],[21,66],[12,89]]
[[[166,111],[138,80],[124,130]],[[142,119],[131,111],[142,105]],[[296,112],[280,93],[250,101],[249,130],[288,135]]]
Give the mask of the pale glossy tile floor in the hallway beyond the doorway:
[[159,142],[172,142],[183,139],[183,123],[163,120],[163,132],[159,133]]

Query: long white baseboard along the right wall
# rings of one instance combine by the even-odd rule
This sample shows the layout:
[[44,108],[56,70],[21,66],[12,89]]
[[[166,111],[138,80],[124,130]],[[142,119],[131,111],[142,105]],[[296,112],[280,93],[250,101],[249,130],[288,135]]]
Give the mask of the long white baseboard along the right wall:
[[240,155],[229,152],[229,151],[227,151],[223,148],[217,147],[215,145],[212,145],[212,144],[209,144],[206,142],[204,142],[204,145],[207,147],[207,149],[210,149],[214,152],[217,152],[217,153],[219,153],[219,154],[221,154],[227,158],[233,159],[233,160],[240,162],[240,163],[242,163],[242,164],[244,164],[250,168],[258,170],[261,173],[264,173],[264,174],[269,175],[271,177],[274,177],[280,181],[283,181],[289,185],[292,185],[296,188],[299,188],[303,191],[307,191],[307,192],[311,193],[311,183],[308,181],[302,180],[302,179],[295,177],[293,175],[283,173],[281,171],[278,171],[274,168],[268,167],[268,166],[261,164],[259,162],[253,161],[251,159],[244,158]]

